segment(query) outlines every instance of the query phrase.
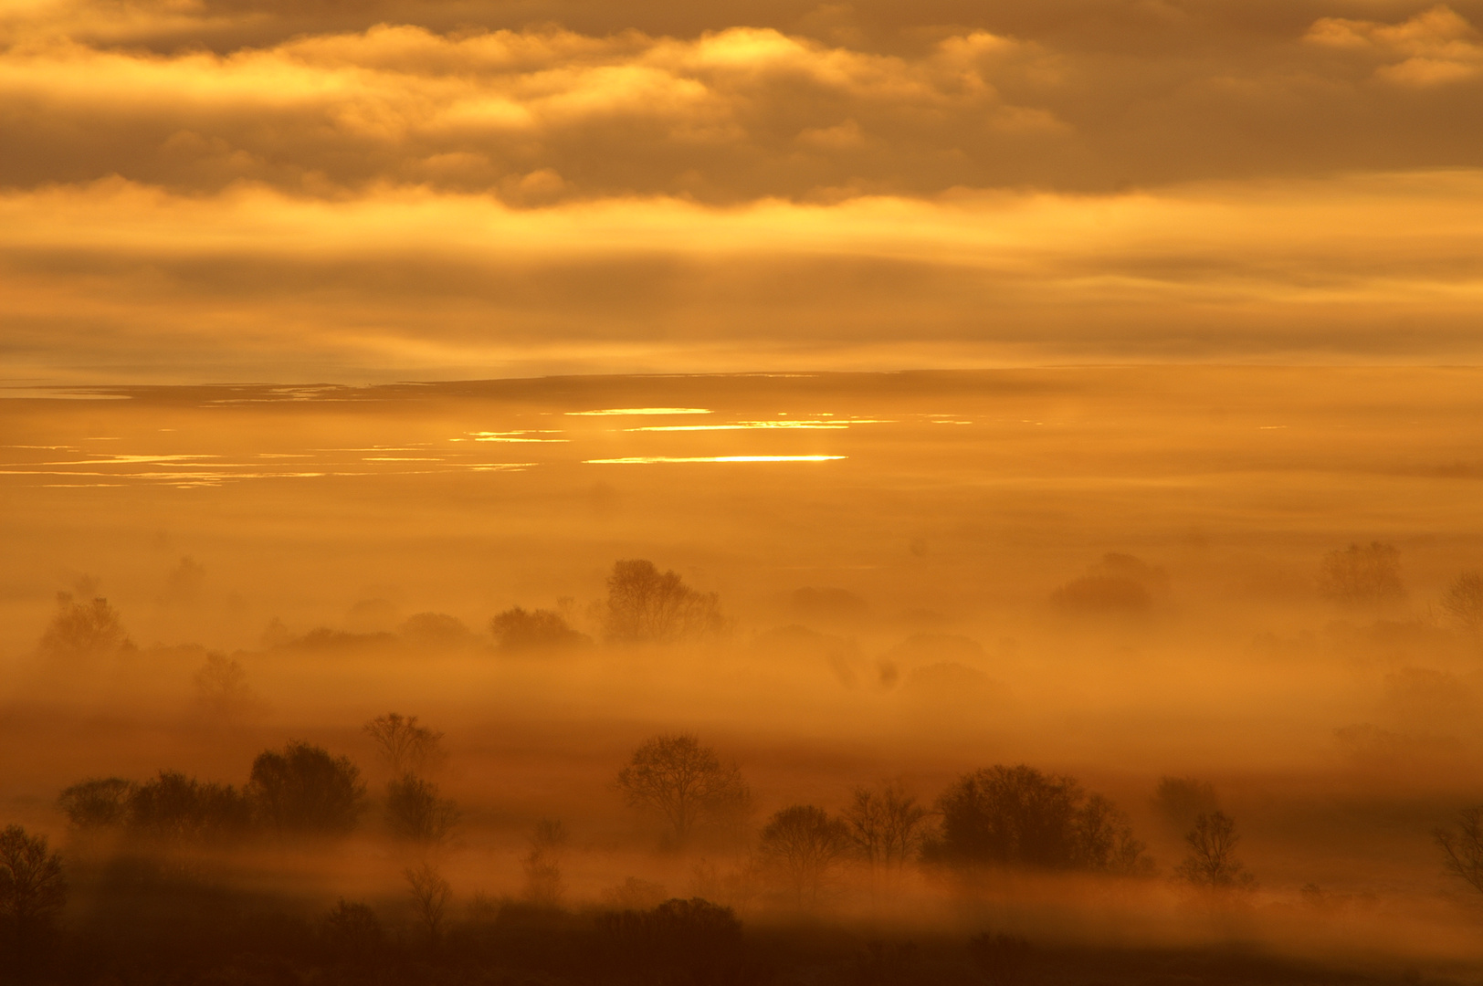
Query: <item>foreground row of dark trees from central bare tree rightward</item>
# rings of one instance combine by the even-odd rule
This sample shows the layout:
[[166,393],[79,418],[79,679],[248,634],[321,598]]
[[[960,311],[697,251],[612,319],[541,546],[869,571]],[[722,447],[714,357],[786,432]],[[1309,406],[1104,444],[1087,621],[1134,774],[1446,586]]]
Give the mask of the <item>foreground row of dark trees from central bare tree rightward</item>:
[[[617,787],[629,805],[663,823],[664,842],[675,848],[750,804],[737,765],[691,734],[658,735],[639,746],[618,771]],[[1209,784],[1164,778],[1157,801],[1169,802],[1188,824],[1189,856],[1178,878],[1207,890],[1252,885],[1234,856],[1235,824],[1215,807]],[[1154,869],[1127,815],[1111,801],[1071,777],[1026,765],[964,774],[933,810],[899,784],[854,789],[838,815],[817,805],[787,805],[765,821],[755,854],[755,866],[773,873],[798,903],[816,901],[847,861],[863,864],[872,884],[914,861],[964,875],[1019,869],[1140,876]]]

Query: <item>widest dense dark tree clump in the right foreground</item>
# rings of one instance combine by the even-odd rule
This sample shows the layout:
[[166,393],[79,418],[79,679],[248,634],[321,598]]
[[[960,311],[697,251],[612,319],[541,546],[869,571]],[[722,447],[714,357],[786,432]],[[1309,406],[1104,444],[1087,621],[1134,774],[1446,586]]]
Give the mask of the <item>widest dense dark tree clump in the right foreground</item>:
[[1126,815],[1071,777],[1025,767],[964,774],[937,799],[924,858],[962,869],[1010,866],[1136,873],[1143,844]]

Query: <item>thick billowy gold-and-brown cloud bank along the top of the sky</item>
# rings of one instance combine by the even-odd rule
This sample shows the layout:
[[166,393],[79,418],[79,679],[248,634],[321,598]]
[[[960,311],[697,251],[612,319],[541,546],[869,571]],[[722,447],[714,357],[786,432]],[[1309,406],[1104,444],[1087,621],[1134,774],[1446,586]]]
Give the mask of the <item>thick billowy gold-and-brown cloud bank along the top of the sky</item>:
[[[1216,4],[1201,16],[1103,4],[1084,12],[1108,28],[1096,44],[1046,15],[1020,16],[1023,36],[876,24],[854,43],[777,27],[679,37],[387,21],[257,44],[254,31],[300,22],[261,4],[107,4],[85,30],[86,4],[28,9],[0,56],[0,128],[16,148],[0,157],[0,185],[18,188],[119,175],[182,193],[427,184],[512,203],[736,205],[1483,160],[1470,125],[1483,61],[1449,7],[1398,22],[1258,18],[1253,30]],[[191,16],[217,47],[157,50],[98,27],[175,31]],[[227,22],[234,43],[212,34]],[[521,182],[532,173],[561,181],[531,199]]]

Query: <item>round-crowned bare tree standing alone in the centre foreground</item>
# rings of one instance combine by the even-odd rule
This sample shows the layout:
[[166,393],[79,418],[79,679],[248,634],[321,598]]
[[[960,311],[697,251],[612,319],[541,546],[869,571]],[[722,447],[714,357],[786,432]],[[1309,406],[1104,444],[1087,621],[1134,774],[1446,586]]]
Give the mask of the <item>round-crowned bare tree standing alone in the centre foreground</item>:
[[685,845],[697,824],[740,814],[752,799],[742,771],[688,732],[647,741],[618,771],[617,783],[629,805],[669,823],[676,847]]

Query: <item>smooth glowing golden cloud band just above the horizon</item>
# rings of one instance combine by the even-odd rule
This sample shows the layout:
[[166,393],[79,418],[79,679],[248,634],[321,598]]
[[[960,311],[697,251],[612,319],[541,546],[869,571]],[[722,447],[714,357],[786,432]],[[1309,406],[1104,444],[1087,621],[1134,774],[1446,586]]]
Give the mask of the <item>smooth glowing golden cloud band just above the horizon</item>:
[[1483,356],[1480,202],[1479,171],[736,209],[113,179],[0,199],[0,292],[9,365],[95,377],[1446,362]]

